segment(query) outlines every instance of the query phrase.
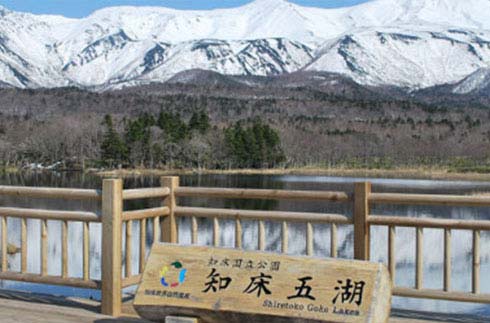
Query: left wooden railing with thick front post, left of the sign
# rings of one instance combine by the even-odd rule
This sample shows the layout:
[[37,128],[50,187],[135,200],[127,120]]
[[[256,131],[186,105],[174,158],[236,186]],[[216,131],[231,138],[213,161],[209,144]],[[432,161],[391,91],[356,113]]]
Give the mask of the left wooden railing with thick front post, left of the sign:
[[[160,198],[162,203],[169,195],[169,189],[144,188],[123,190],[122,180],[107,179],[103,182],[102,190],[71,189],[71,188],[44,188],[44,187],[14,187],[0,186],[0,196],[17,196],[22,198],[46,198],[46,199],[70,199],[93,200],[101,203],[102,214],[87,211],[65,211],[30,209],[17,207],[0,207],[0,230],[2,239],[0,280],[12,280],[31,283],[43,283],[50,285],[63,285],[79,288],[100,289],[102,291],[102,313],[117,316],[120,313],[122,289],[139,283],[143,271],[146,255],[146,221],[153,221],[153,241],[159,240],[157,232],[161,217],[169,214],[168,207],[157,207],[143,210],[123,210],[124,200]],[[20,271],[13,272],[8,265],[8,236],[7,218],[20,218]],[[40,269],[39,274],[27,271],[27,220],[41,220],[40,234]],[[61,275],[48,275],[48,220],[61,222]],[[132,223],[140,222],[140,259],[139,272],[133,275],[132,268]],[[83,268],[82,278],[69,275],[68,254],[68,223],[81,222],[83,224]],[[90,277],[90,223],[102,224],[102,256],[101,279]],[[126,224],[126,246],[121,245],[122,227]],[[155,230],[156,228],[156,230]],[[16,232],[16,234],[19,234]],[[124,276],[121,273],[122,255],[126,253],[126,270]]]

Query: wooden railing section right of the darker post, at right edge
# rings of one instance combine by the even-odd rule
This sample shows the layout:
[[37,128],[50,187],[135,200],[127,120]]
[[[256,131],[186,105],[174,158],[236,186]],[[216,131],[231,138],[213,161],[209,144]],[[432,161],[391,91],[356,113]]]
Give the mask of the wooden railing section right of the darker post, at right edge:
[[[490,198],[478,196],[455,196],[439,194],[391,194],[371,193],[369,184],[356,184],[364,192],[367,204],[409,204],[409,205],[445,205],[490,207]],[[461,302],[490,303],[490,294],[480,292],[480,233],[490,231],[489,220],[452,220],[432,218],[410,218],[400,216],[367,216],[368,226],[386,226],[388,228],[388,269],[395,281],[395,237],[397,227],[413,227],[415,235],[415,286],[413,288],[394,287],[398,296],[451,300]],[[423,238],[424,228],[444,230],[444,262],[442,290],[425,289],[423,286]],[[468,230],[472,232],[472,279],[471,292],[454,291],[451,288],[451,231]],[[369,236],[369,233],[367,233]],[[369,237],[367,238],[369,241]]]

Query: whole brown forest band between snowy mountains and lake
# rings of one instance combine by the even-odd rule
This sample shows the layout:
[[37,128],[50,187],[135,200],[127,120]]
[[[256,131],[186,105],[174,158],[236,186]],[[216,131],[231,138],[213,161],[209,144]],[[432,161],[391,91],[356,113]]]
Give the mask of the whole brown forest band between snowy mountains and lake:
[[0,168],[490,170],[489,107],[349,86],[0,89]]

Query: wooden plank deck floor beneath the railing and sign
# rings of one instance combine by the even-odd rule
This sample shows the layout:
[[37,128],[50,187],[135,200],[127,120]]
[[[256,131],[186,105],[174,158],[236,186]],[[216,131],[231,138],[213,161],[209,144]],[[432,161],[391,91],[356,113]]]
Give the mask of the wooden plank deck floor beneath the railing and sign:
[[[91,300],[0,290],[2,323],[148,323],[137,316],[131,302],[124,304],[124,314],[118,318],[101,315],[99,310],[100,304]],[[481,318],[448,317],[431,313],[395,311],[394,315],[390,323],[482,322]],[[427,317],[433,317],[437,321],[428,320]]]

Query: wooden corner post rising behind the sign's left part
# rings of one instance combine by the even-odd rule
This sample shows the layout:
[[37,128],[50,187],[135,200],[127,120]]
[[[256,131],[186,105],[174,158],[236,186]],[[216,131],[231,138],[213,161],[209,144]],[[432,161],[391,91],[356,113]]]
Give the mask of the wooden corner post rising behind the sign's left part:
[[179,187],[179,177],[178,176],[166,176],[162,177],[161,185],[163,187],[168,187],[170,189],[170,194],[164,200],[164,206],[168,207],[170,210],[169,215],[163,218],[161,225],[162,241],[177,243],[178,242],[178,231],[177,231],[177,220],[175,218],[175,207],[177,205],[175,199],[175,189]]

